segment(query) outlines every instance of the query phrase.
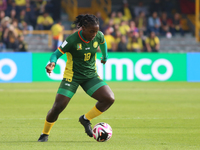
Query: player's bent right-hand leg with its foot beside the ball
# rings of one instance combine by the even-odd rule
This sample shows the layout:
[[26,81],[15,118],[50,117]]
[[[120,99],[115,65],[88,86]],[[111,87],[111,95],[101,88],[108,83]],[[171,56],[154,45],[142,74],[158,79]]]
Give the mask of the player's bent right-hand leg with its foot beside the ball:
[[87,135],[92,137],[93,133],[90,120],[102,114],[114,103],[114,94],[110,87],[98,77],[83,83],[81,86],[88,95],[98,100],[96,105],[88,113],[79,118]]

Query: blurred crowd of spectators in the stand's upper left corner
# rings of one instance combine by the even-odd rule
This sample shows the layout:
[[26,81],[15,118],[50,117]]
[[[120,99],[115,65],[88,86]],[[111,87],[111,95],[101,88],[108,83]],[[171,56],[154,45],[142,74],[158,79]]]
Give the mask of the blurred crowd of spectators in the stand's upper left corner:
[[60,19],[59,9],[55,11],[57,7],[53,2],[0,0],[0,51],[27,51],[25,34],[31,35],[33,30],[51,29],[54,22]]

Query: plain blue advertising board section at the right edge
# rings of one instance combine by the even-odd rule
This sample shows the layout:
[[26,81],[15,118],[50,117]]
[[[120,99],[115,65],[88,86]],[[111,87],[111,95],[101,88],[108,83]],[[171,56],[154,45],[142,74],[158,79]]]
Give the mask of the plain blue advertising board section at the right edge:
[[200,53],[187,53],[187,81],[200,82]]

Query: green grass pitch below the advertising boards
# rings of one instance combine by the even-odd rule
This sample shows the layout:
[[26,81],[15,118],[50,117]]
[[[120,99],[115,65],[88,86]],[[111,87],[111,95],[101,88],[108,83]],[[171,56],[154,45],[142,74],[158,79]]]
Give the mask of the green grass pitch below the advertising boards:
[[37,142],[59,84],[0,84],[0,150],[200,149],[200,83],[187,82],[108,82],[116,101],[92,120],[113,129],[103,143],[86,136],[78,122],[96,103],[79,88],[49,141]]

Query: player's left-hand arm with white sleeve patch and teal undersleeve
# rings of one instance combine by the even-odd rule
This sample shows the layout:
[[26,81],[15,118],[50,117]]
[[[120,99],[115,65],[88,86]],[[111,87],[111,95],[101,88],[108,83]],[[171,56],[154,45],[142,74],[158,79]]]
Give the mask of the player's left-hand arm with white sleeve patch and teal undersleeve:
[[69,52],[71,49],[71,44],[65,40],[60,47],[51,55],[50,63],[45,67],[46,72],[51,74],[53,69],[55,68],[57,60],[66,52]]

